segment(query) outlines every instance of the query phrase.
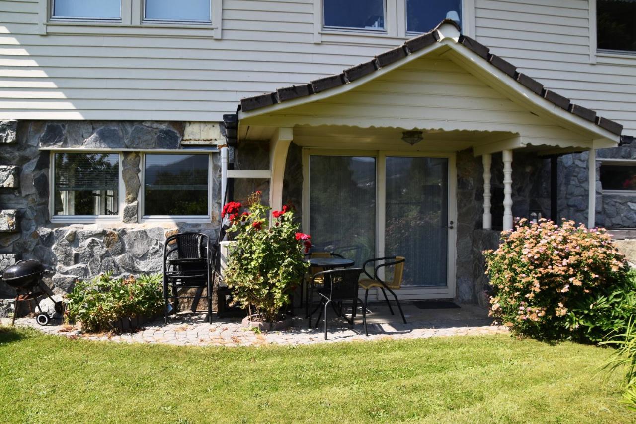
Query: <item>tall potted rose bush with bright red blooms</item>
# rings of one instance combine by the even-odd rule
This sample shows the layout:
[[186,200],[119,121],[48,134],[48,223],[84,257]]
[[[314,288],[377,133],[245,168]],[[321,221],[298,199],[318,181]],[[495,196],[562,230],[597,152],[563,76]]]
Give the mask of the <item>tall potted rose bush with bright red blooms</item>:
[[235,303],[247,309],[245,327],[262,330],[288,327],[285,311],[291,294],[307,271],[303,248],[308,251],[310,236],[298,231],[294,210],[283,206],[272,212],[261,204],[261,192],[250,195],[247,211],[230,202],[222,211],[232,223],[228,230],[235,243],[225,270],[225,281],[233,291]]

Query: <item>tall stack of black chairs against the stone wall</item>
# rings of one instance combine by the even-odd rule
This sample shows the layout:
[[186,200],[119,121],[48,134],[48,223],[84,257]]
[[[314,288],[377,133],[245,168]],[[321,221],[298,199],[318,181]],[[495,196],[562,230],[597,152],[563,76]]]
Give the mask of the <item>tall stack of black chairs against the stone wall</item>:
[[[212,322],[212,248],[210,237],[201,232],[181,232],[170,236],[163,248],[163,298],[165,323],[168,323],[169,293],[174,299],[174,312],[179,310],[179,289],[207,288],[207,318]],[[202,292],[202,290],[200,290]],[[197,292],[195,303],[198,303]],[[196,306],[193,306],[196,311]]]

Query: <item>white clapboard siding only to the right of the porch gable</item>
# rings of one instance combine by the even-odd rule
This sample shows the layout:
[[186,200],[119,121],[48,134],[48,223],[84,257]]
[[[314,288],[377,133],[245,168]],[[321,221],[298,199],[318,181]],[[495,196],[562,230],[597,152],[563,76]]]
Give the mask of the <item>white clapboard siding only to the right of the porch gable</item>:
[[476,38],[547,88],[636,136],[636,56],[595,54],[590,2],[475,0]]

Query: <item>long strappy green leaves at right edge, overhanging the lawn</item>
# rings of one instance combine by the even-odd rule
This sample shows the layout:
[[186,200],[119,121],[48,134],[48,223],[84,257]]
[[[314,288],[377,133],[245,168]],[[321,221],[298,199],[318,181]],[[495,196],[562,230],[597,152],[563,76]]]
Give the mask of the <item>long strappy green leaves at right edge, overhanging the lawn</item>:
[[[636,308],[633,309],[636,311]],[[615,334],[609,341],[601,344],[616,346],[616,350],[605,362],[604,367],[610,372],[625,369],[623,378],[623,403],[636,411],[636,323],[634,314],[628,321],[625,332]]]

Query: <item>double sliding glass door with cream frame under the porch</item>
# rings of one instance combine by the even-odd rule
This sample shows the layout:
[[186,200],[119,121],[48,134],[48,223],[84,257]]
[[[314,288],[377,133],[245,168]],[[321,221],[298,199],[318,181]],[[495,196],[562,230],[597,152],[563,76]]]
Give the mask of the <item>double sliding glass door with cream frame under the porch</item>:
[[403,256],[400,298],[455,295],[452,155],[307,150],[304,162],[303,221],[315,250],[356,266]]

